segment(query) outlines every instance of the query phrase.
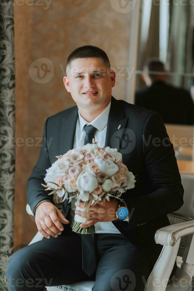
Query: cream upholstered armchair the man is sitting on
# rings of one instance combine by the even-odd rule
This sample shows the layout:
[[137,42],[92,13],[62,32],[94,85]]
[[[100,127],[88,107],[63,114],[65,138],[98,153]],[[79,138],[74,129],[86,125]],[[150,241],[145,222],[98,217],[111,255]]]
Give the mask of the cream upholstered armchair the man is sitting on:
[[[185,190],[184,204],[178,211],[168,215],[171,225],[156,231],[155,242],[163,245],[163,249],[147,280],[144,291],[192,290],[194,264],[194,175],[182,175],[181,178]],[[26,211],[28,214],[33,215],[28,204]],[[38,232],[29,244],[43,238],[43,235]],[[175,260],[177,261],[178,268],[170,281],[168,279]],[[179,262],[181,260],[182,264],[180,266]],[[93,284],[94,281],[75,282],[70,285],[47,287],[47,290],[91,291]]]

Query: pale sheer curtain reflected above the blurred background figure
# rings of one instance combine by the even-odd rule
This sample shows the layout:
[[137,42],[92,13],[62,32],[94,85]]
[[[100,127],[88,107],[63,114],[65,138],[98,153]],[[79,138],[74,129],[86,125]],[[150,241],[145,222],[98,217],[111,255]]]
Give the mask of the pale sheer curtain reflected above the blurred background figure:
[[141,2],[136,88],[144,87],[140,78],[144,62],[158,57],[166,64],[168,82],[190,90],[193,80],[194,6],[173,0]]

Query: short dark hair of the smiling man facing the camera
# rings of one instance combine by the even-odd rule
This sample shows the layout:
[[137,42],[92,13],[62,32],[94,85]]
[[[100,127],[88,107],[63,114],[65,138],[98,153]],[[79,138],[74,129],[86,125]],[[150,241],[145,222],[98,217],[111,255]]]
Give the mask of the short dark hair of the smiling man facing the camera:
[[84,45],[76,48],[67,58],[67,66],[70,65],[71,61],[77,58],[101,58],[104,63],[110,67],[110,61],[105,51],[93,45]]

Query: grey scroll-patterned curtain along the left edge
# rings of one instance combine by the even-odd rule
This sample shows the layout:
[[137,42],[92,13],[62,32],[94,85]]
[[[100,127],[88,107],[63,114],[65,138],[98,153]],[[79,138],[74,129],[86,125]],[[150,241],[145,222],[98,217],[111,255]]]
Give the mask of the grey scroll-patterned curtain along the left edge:
[[15,58],[13,0],[0,1],[0,290],[13,253],[15,179]]

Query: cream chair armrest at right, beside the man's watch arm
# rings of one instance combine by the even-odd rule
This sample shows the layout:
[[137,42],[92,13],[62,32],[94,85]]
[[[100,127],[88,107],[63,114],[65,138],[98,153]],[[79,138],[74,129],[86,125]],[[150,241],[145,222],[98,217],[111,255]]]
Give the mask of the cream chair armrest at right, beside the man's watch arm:
[[155,233],[155,242],[163,246],[174,246],[179,238],[194,233],[194,220],[168,225]]

